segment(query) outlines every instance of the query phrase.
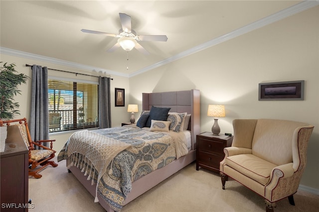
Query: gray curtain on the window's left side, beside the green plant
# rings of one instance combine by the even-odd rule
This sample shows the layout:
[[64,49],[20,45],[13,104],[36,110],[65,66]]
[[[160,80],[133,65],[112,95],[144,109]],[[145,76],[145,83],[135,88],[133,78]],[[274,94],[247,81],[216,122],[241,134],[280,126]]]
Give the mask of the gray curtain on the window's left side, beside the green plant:
[[33,141],[47,140],[49,139],[48,69],[37,65],[33,65],[31,69],[30,135]]

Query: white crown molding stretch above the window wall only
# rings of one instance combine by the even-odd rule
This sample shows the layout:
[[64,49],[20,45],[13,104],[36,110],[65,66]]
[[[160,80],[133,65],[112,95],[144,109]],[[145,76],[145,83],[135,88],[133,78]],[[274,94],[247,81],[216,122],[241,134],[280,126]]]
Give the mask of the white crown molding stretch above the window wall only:
[[22,52],[22,51],[18,51],[18,50],[14,50],[14,49],[8,49],[8,48],[4,48],[4,47],[0,47],[0,53],[6,54],[6,55],[11,55],[11,56],[16,56],[16,57],[27,58],[27,59],[31,59],[31,60],[37,60],[37,61],[42,61],[42,62],[47,62],[47,63],[58,64],[58,65],[62,65],[62,66],[73,67],[73,68],[87,70],[87,71],[103,72],[105,74],[109,74],[109,75],[113,75],[113,76],[129,77],[128,74],[124,74],[124,73],[120,73],[120,72],[101,69],[101,68],[94,67],[94,66],[87,66],[87,65],[74,63],[74,62],[70,62],[70,61],[66,61],[66,60],[60,60],[60,59],[51,58],[51,57],[45,57],[45,56],[41,56],[41,55]]

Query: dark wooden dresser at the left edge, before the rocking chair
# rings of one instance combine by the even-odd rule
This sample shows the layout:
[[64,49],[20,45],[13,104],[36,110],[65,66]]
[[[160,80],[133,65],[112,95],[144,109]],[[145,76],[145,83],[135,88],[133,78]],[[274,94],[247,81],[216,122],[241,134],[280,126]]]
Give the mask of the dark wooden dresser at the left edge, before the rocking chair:
[[[23,141],[5,143],[0,153],[0,211],[28,211],[28,148]],[[23,206],[22,206],[23,204]]]

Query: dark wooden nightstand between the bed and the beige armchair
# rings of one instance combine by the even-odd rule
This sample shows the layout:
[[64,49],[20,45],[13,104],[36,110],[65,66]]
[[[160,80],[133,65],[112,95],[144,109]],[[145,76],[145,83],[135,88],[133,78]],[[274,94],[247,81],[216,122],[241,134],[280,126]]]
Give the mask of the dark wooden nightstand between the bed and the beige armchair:
[[219,162],[225,157],[224,148],[231,146],[233,136],[203,132],[196,136],[196,170],[199,166],[219,173]]

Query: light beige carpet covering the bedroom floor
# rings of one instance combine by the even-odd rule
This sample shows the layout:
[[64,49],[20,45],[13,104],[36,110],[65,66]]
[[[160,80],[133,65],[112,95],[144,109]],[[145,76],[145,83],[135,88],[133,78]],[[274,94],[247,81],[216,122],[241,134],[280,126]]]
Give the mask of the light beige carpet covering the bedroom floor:
[[[58,164],[41,171],[40,179],[29,177],[29,198],[34,204],[29,212],[104,212],[73,174],[67,172],[65,160]],[[264,200],[236,181],[229,179],[226,189],[221,187],[218,173],[201,168],[196,171],[195,163],[191,163],[129,203],[122,212],[265,212]],[[285,198],[277,202],[274,211],[319,209],[318,195],[298,191],[294,199],[296,206]]]

